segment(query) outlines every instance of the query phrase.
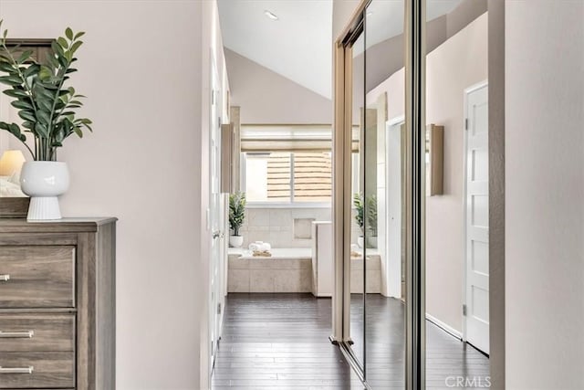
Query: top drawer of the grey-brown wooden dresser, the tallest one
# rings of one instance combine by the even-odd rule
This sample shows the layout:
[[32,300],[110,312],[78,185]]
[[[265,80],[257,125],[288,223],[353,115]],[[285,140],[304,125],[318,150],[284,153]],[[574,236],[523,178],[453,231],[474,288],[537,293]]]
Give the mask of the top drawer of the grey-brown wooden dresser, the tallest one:
[[75,247],[3,247],[0,308],[75,306]]

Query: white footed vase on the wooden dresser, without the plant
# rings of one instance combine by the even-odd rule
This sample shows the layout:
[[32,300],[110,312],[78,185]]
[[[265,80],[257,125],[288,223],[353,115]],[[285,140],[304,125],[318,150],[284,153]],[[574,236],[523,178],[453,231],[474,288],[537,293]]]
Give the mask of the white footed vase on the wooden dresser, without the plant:
[[57,196],[67,192],[69,172],[67,163],[31,161],[24,163],[20,173],[22,192],[30,196],[29,221],[61,219]]

